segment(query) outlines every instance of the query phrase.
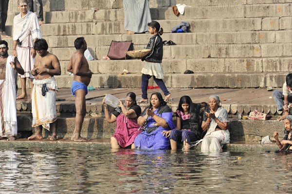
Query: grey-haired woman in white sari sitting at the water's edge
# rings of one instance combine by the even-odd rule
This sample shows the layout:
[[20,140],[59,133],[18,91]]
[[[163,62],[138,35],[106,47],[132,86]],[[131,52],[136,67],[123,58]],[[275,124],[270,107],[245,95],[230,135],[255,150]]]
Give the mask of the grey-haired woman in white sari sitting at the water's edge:
[[221,151],[222,146],[230,141],[228,113],[219,104],[217,95],[209,97],[210,108],[205,111],[202,122],[202,129],[207,130],[207,133],[202,141],[201,152]]

